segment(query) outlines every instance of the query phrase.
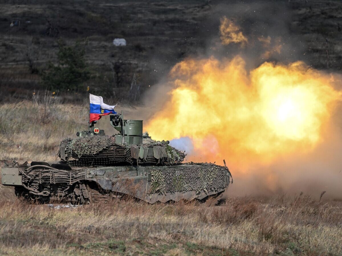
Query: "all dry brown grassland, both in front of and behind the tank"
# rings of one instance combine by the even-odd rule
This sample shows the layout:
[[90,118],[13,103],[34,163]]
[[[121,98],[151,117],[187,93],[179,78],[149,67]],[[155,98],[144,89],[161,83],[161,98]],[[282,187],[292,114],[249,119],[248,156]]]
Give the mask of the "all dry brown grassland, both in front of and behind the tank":
[[[57,160],[87,110],[53,100],[0,106],[1,159]],[[228,189],[220,206],[126,199],[53,208],[1,185],[0,223],[0,255],[342,255],[342,204],[324,196],[231,198]]]

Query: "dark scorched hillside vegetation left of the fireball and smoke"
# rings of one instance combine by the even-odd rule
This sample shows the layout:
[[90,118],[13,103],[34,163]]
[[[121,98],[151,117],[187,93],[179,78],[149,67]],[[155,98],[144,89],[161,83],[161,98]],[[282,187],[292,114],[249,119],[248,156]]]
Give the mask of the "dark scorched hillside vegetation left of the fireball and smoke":
[[[56,86],[64,80],[58,77],[66,77],[56,70],[66,67],[61,63],[60,42],[63,41],[62,50],[84,51],[91,79],[81,79],[79,91],[86,94],[89,86],[91,93],[101,93],[116,101],[136,102],[149,85],[158,81],[158,75],[168,72],[170,65],[177,61],[178,48],[193,52],[195,39],[189,45],[186,38],[194,37],[196,24],[188,14],[200,8],[205,15],[209,6],[202,5],[122,1],[0,3],[5,12],[0,23],[3,36],[0,49],[5,50],[0,54],[0,65],[4,68],[1,93],[7,91],[8,96],[23,99],[32,89],[62,87],[64,95],[68,94],[67,89],[74,90],[74,80]],[[178,15],[183,17],[178,19]],[[10,27],[13,20],[19,20],[20,25]],[[174,27],[176,24],[179,26]],[[125,38],[127,46],[114,46],[115,38]],[[80,49],[81,45],[77,45],[80,40],[88,41],[86,47]],[[155,57],[157,62],[152,62]],[[11,72],[12,68],[16,75]],[[49,81],[54,77],[51,71],[58,72],[54,80],[61,81]],[[13,86],[9,81],[13,75],[16,88],[8,91]],[[71,101],[77,102],[77,98]]]

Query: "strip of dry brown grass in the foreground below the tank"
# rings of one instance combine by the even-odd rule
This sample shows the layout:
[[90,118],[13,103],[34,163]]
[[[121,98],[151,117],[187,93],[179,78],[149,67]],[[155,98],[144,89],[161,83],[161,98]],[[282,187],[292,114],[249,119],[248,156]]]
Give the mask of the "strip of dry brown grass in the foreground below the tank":
[[341,203],[308,196],[216,207],[121,200],[55,209],[0,195],[0,254],[342,254]]

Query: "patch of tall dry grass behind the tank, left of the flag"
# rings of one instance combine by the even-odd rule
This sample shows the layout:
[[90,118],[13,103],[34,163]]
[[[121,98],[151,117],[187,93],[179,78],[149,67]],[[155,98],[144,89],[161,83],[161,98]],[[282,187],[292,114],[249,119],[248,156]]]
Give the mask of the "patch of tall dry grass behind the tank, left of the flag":
[[60,141],[85,130],[88,106],[60,104],[58,97],[0,105],[0,160],[57,161]]

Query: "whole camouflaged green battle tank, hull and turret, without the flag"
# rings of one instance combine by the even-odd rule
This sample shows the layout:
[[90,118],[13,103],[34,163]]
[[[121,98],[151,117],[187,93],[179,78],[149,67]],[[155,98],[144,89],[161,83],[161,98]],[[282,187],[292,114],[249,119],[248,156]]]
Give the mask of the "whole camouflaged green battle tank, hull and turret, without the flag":
[[[182,163],[185,152],[143,133],[142,120],[111,114],[115,135],[94,128],[64,139],[56,163],[14,162],[2,185],[35,202],[92,203],[128,195],[149,203],[218,197],[232,181],[226,166]],[[225,163],[224,163],[225,165]]]

